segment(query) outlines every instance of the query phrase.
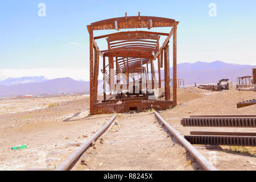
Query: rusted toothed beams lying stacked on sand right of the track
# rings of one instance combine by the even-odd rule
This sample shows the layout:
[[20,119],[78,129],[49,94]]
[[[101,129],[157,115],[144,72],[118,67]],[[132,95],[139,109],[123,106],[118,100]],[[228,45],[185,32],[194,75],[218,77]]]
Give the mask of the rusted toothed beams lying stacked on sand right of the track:
[[[181,119],[189,127],[256,127],[256,115],[191,115]],[[191,144],[222,146],[256,146],[256,133],[191,131],[186,135]]]

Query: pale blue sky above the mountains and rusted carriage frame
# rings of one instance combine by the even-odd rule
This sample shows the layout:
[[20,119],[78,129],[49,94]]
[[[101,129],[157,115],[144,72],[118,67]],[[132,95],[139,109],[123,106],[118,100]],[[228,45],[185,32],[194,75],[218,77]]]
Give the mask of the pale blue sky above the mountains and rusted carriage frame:
[[[46,4],[46,17],[38,4]],[[216,3],[217,16],[208,15]],[[0,80],[7,77],[72,77],[89,80],[87,24],[141,15],[180,22],[177,62],[256,65],[256,1],[2,1],[0,6]],[[167,28],[157,31],[169,32]],[[152,29],[154,30],[154,28]],[[95,35],[106,31],[96,31]],[[104,49],[105,42],[98,42]],[[171,62],[171,61],[170,61]]]

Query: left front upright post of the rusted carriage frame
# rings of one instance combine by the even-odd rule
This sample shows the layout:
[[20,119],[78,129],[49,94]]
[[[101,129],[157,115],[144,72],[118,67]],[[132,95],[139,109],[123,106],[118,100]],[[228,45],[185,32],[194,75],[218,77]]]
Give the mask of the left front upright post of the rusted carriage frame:
[[89,53],[90,53],[90,113],[93,113],[93,104],[94,104],[94,84],[93,84],[93,46],[94,46],[94,40],[93,40],[93,29],[91,26],[87,26],[89,37],[90,37],[90,43],[89,43]]

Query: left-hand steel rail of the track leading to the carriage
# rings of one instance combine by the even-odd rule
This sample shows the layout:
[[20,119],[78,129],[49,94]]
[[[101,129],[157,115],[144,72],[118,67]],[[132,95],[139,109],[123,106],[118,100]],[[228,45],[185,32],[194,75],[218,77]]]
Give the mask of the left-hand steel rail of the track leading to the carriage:
[[60,164],[59,167],[55,169],[55,171],[69,171],[75,166],[77,160],[84,154],[84,152],[90,147],[93,142],[105,133],[108,130],[109,126],[113,123],[117,114],[113,115],[113,117],[106,123],[100,130],[97,131],[89,140],[83,143],[75,152],[73,152],[63,163]]

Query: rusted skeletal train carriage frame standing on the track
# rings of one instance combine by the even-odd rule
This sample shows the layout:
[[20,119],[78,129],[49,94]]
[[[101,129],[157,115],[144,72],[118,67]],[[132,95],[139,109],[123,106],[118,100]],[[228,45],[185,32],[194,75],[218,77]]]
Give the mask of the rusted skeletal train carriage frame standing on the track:
[[[176,41],[177,24],[174,19],[154,16],[127,16],[101,20],[87,26],[90,42],[90,114],[124,113],[130,110],[144,111],[154,108],[166,110],[177,105]],[[94,36],[96,30],[121,30],[127,28],[172,27],[169,33],[154,31],[120,31],[113,34]],[[166,38],[159,46],[160,37]],[[170,52],[173,41],[173,92],[170,98]],[[97,39],[106,39],[108,49],[100,51]],[[101,72],[104,76],[104,99],[97,101],[100,56],[103,58]],[[157,60],[158,77],[154,62]],[[108,64],[106,64],[108,61]],[[150,64],[150,71],[148,70]],[[165,100],[155,97],[161,88],[160,68],[164,68]],[[137,79],[134,75],[137,75]],[[106,98],[106,84],[114,99]]]

